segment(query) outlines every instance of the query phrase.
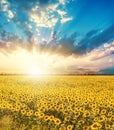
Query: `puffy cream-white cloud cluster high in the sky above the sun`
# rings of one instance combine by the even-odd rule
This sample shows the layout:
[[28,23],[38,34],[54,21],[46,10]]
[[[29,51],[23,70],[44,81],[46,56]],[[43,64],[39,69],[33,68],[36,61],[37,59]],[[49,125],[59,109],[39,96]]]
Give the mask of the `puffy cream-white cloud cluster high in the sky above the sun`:
[[30,20],[35,22],[38,27],[49,28],[54,27],[58,22],[59,17],[57,14],[60,16],[61,24],[73,20],[73,17],[67,15],[68,11],[58,9],[58,6],[59,3],[50,4],[47,2],[43,7],[37,4],[31,8],[31,11],[29,11]]

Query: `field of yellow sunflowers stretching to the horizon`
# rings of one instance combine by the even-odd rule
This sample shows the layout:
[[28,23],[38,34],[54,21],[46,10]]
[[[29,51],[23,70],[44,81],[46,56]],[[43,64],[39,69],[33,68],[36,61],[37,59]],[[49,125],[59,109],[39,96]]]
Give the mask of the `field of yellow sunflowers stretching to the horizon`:
[[0,76],[0,130],[114,130],[114,76]]

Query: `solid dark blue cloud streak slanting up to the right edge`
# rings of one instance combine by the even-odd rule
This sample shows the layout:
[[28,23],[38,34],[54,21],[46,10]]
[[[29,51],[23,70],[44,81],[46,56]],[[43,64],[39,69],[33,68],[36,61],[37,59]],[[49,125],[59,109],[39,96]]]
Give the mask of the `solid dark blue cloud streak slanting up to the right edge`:
[[95,36],[90,34],[93,35],[93,31],[87,33],[87,35],[78,43],[78,46],[75,48],[75,53],[85,54],[112,40],[114,38],[114,24]]

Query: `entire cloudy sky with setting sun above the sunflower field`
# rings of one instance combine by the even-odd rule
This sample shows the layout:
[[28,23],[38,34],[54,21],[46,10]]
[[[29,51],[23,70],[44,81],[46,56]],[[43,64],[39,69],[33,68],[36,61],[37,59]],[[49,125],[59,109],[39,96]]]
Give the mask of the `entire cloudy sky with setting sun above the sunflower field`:
[[0,72],[114,74],[114,0],[0,0]]

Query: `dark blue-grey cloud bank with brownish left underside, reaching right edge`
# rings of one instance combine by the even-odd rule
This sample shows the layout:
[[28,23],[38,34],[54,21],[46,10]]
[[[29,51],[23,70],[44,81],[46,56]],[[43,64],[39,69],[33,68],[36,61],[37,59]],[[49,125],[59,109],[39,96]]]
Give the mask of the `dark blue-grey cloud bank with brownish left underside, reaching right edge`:
[[[80,42],[77,43],[77,45],[75,45],[77,37],[78,33],[75,32],[69,37],[64,36],[58,41],[56,46],[54,45],[55,42],[51,42],[52,51],[56,50],[63,55],[86,54],[87,52],[92,51],[114,38],[114,25],[111,25],[109,28],[100,33],[99,30],[91,30]],[[47,49],[49,48],[50,46],[47,47]]]

